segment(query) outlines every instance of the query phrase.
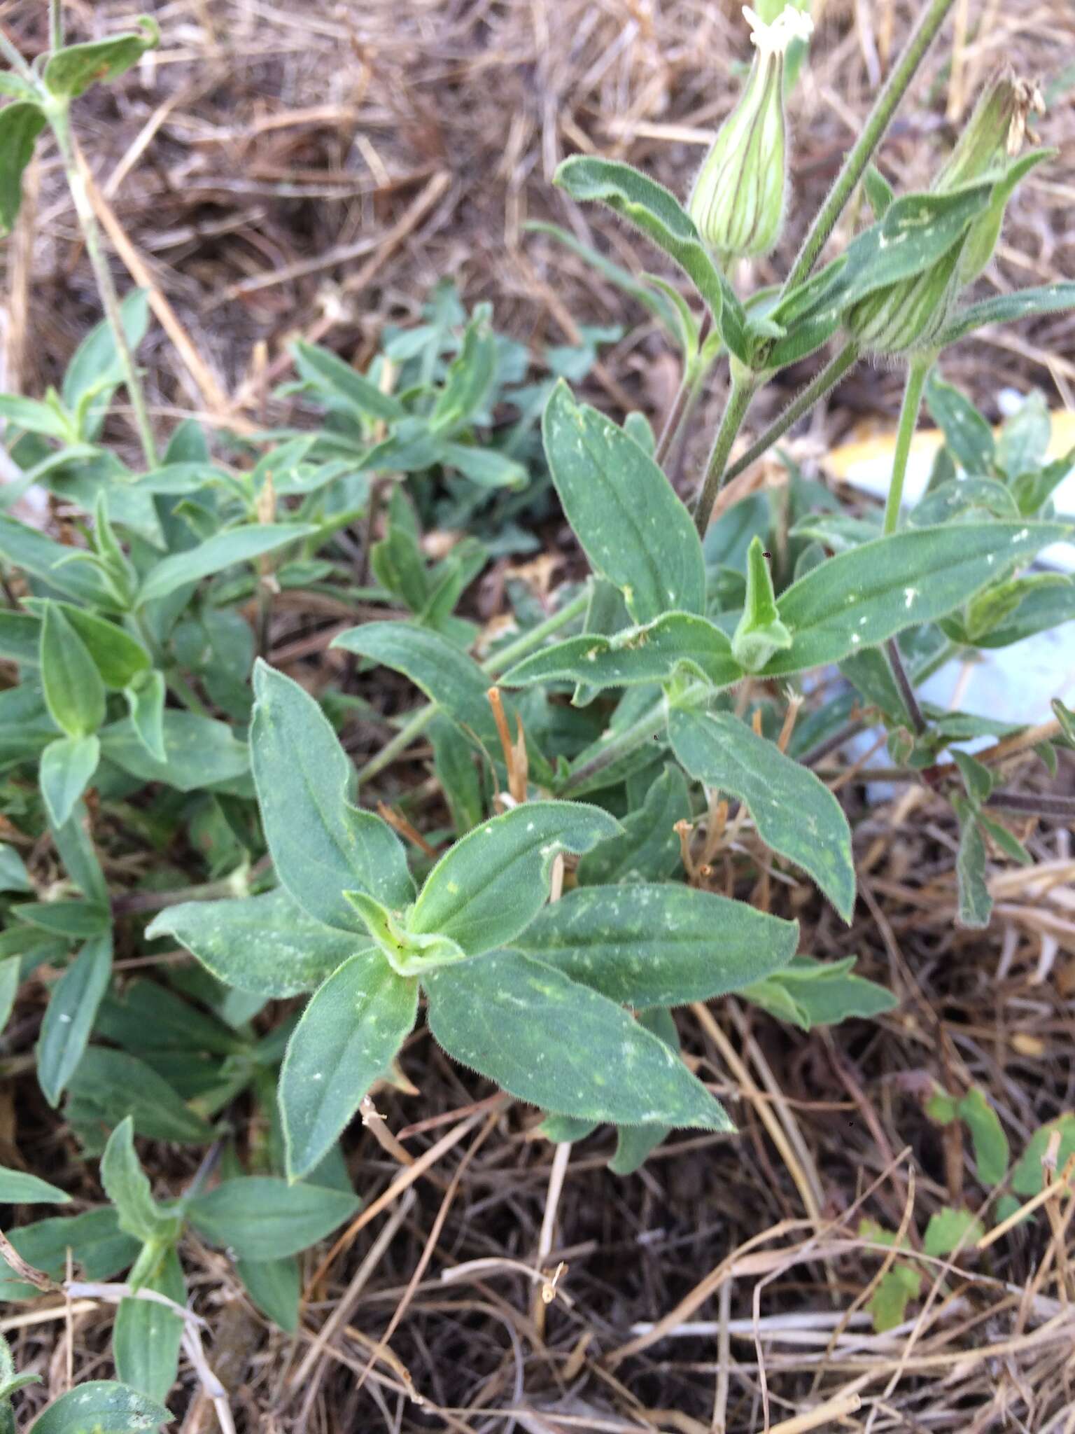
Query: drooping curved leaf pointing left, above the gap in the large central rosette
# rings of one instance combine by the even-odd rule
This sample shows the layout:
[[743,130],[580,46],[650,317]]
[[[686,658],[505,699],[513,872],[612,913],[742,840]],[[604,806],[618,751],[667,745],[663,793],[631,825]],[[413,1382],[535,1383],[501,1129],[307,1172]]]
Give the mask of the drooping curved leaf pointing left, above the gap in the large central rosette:
[[[333,640],[333,647],[403,673],[490,756],[500,753],[500,737],[487,697],[490,678],[473,657],[439,632],[413,622],[366,622],[341,632]],[[505,703],[505,711],[515,733],[516,713],[510,703]]]

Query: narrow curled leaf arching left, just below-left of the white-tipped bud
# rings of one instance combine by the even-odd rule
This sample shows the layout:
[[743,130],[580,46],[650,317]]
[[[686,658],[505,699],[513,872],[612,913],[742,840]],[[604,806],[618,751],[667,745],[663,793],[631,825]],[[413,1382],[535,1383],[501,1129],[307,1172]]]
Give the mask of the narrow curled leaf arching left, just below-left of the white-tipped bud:
[[728,350],[744,363],[750,360],[742,305],[712,262],[694,221],[669,189],[631,165],[589,155],[565,159],[553,182],[572,199],[606,204],[675,260],[710,305]]

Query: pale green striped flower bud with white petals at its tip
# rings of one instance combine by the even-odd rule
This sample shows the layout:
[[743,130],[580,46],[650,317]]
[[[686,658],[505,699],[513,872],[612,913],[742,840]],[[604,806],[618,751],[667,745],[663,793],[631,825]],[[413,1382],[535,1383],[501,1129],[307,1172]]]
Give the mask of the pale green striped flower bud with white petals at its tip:
[[764,24],[744,6],[752,30],[754,63],[735,109],[720,129],[698,172],[688,211],[721,260],[768,254],[784,218],[787,125],[784,56],[808,39],[810,16],[783,10]]

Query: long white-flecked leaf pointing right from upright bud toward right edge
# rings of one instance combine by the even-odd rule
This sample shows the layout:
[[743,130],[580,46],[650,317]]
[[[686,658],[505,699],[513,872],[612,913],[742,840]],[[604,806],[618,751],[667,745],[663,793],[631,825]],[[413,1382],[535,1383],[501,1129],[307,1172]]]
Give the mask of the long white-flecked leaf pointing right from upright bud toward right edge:
[[1069,532],[1064,523],[946,523],[837,554],[780,595],[791,647],[764,674],[838,663],[904,628],[935,622]]

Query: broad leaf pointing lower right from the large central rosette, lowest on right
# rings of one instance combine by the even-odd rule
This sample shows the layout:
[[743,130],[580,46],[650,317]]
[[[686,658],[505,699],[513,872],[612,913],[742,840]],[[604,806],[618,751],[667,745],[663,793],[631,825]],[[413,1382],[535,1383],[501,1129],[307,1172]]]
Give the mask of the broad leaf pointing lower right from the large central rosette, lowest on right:
[[424,981],[449,1055],[542,1110],[618,1124],[731,1130],[722,1107],[622,1007],[517,952]]

